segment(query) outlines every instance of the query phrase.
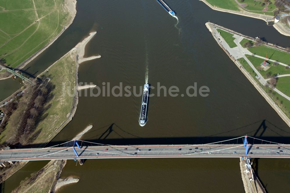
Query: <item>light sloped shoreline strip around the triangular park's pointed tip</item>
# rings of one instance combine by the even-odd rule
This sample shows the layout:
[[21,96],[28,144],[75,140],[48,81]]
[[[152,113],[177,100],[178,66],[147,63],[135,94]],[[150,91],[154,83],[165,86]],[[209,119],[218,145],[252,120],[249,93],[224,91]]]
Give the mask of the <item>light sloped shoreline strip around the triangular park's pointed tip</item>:
[[[211,25],[213,25],[213,23],[207,22],[206,27],[209,29],[209,31],[211,32],[211,34],[213,35],[213,31],[211,30]],[[218,26],[215,24],[215,26]],[[218,27],[222,27],[222,26],[218,26]],[[224,27],[222,27],[224,28]],[[227,28],[224,28],[227,29]],[[229,30],[229,29],[228,29]],[[232,30],[230,30],[232,31]],[[244,36],[244,35],[243,35]],[[214,37],[214,35],[213,35]],[[246,37],[246,36],[245,36]],[[247,77],[247,79],[253,84],[253,86],[258,90],[258,92],[260,92],[260,94],[266,99],[266,101],[271,105],[271,107],[278,113],[278,115],[283,119],[283,121],[290,127],[290,119],[284,114],[284,112],[277,106],[275,105],[275,103],[273,102],[273,100],[271,99],[271,97],[269,97],[269,95],[267,95],[264,90],[260,87],[260,85],[258,85],[258,83],[253,79],[253,77],[249,76],[249,73],[244,69],[244,68],[240,68],[241,64],[233,59],[229,53],[225,50],[225,48],[219,43],[219,41],[217,39],[215,39],[218,43],[218,45],[220,45],[220,47],[226,52],[226,54],[230,57],[230,59],[237,65],[237,67],[242,71],[242,73]]]

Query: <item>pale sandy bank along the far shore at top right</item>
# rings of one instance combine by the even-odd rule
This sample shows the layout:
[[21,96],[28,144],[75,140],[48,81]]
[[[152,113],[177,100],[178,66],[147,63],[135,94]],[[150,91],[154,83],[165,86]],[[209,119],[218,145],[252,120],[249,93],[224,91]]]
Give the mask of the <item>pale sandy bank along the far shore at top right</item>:
[[[228,12],[228,13],[233,13],[233,14],[237,14],[237,15],[242,15],[242,16],[246,16],[246,17],[252,17],[252,18],[256,18],[256,19],[262,19],[266,22],[269,21],[275,21],[275,18],[273,16],[270,15],[264,15],[264,14],[258,14],[258,13],[252,13],[252,12],[247,12],[245,10],[240,10],[240,11],[234,11],[234,10],[228,10],[228,9],[223,9],[223,8],[218,8],[216,6],[212,6],[211,4],[209,4],[206,0],[200,0],[202,2],[204,2],[207,6],[209,6],[211,9],[213,10],[217,10],[217,11],[221,11],[221,12]],[[280,23],[280,22],[278,22]],[[282,28],[280,26],[280,24],[276,23],[275,25],[273,25],[273,27],[280,33],[283,34],[285,36],[290,36],[290,31],[289,30],[285,30],[284,28]],[[281,24],[282,25],[282,24]]]

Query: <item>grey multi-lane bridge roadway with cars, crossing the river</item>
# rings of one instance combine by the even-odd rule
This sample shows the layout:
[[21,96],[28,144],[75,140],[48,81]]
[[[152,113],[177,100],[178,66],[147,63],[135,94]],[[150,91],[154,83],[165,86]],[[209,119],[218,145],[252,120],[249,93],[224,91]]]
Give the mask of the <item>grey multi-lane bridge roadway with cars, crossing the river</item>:
[[[257,148],[258,147],[258,148]],[[138,148],[138,150],[136,150]],[[30,148],[0,150],[1,161],[32,161],[57,159],[104,159],[104,158],[173,158],[173,157],[242,157],[243,144],[221,145],[104,145],[75,147]],[[196,151],[196,152],[195,152]],[[278,152],[278,153],[277,153]],[[290,158],[290,144],[250,145],[249,157]]]

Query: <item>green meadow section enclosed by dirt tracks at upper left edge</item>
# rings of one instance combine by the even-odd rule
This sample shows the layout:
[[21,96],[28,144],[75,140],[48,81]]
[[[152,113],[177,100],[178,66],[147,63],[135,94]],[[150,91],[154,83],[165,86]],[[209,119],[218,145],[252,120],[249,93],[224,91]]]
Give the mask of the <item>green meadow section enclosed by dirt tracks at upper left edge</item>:
[[17,34],[34,23],[35,11],[0,12],[0,28],[7,34]]

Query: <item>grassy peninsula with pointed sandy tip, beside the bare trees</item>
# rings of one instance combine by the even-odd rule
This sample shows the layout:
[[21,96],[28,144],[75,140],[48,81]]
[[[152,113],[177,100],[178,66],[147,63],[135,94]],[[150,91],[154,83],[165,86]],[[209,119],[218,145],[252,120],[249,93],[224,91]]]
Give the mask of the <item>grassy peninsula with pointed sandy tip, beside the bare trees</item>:
[[[75,114],[75,111],[77,109],[77,104],[78,104],[79,60],[86,59],[84,58],[85,47],[87,43],[90,41],[90,39],[92,39],[95,36],[96,33],[97,32],[91,32],[88,37],[86,37],[83,41],[79,42],[72,50],[70,50],[63,57],[61,57],[61,59],[53,63],[44,72],[39,74],[38,77],[51,77],[51,76],[57,77],[58,76],[60,79],[55,80],[55,85],[57,88],[57,92],[55,92],[55,94],[57,94],[58,97],[54,97],[54,99],[52,99],[51,101],[51,103],[54,105],[52,106],[52,108],[50,108],[51,110],[54,111],[53,113],[51,113],[53,114],[53,116],[47,116],[47,118],[43,120],[44,122],[46,122],[45,126],[39,124],[39,128],[51,128],[50,132],[46,131],[45,135],[39,136],[37,140],[35,141],[35,143],[43,143],[43,141],[46,141],[45,143],[48,143],[55,135],[57,135],[57,133],[61,131],[62,128],[66,126],[66,124],[68,124],[73,119],[73,116]],[[91,60],[91,59],[100,58],[100,57],[101,56],[89,57],[86,60]],[[66,60],[69,59],[69,61],[64,62],[63,61],[64,59]],[[63,69],[63,67],[62,68],[55,67],[55,69],[52,71],[52,68],[54,68],[55,65],[64,65],[64,63],[71,65],[72,62],[75,63],[75,66],[68,67],[67,72],[59,72],[59,70]],[[73,70],[71,68],[73,68]],[[70,78],[69,81],[64,81],[66,79],[64,79],[63,76],[66,74],[68,74],[69,77],[72,77],[71,75],[74,75],[74,78],[73,79]],[[51,81],[53,81],[53,79],[51,79]],[[55,100],[59,103],[59,105],[55,104]],[[69,108],[70,110],[68,110],[68,106],[65,108],[66,110],[64,110],[64,104],[68,105],[68,101],[71,101],[70,108]],[[58,115],[59,117],[61,116],[63,118],[58,119],[56,115]]]

